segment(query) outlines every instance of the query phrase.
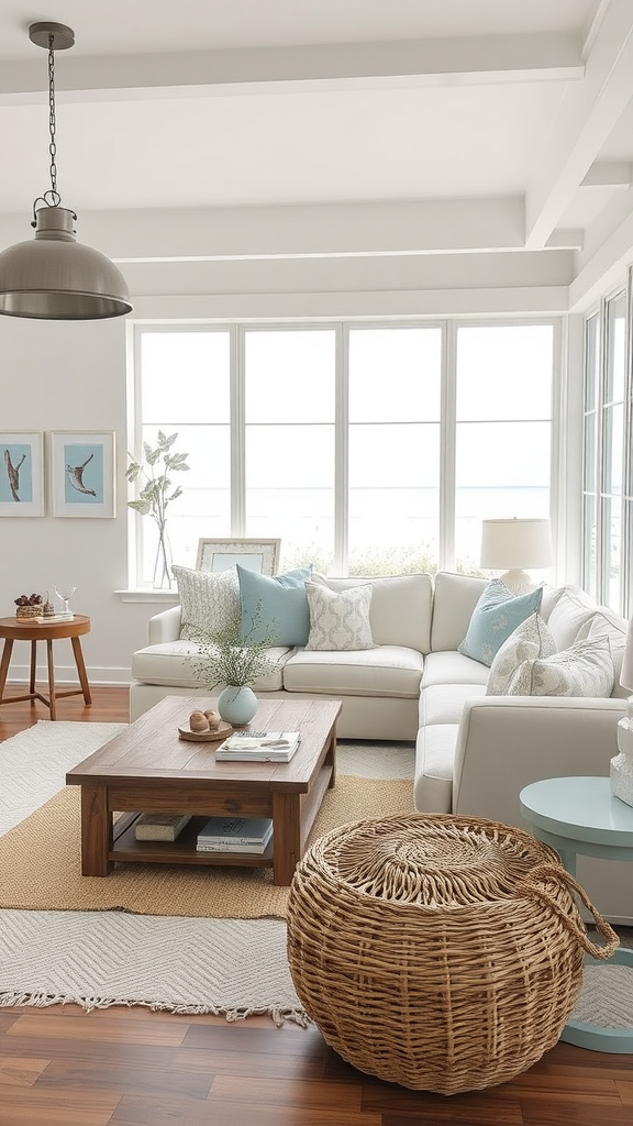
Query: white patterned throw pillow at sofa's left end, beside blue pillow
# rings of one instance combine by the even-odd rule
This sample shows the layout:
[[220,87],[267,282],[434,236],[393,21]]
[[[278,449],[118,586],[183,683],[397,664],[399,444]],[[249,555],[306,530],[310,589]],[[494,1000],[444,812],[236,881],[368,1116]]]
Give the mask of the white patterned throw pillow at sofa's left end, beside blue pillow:
[[181,606],[180,637],[200,641],[200,633],[226,629],[240,616],[238,569],[228,571],[190,571],[172,566]]

